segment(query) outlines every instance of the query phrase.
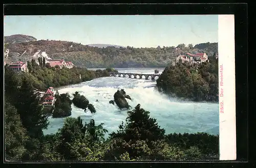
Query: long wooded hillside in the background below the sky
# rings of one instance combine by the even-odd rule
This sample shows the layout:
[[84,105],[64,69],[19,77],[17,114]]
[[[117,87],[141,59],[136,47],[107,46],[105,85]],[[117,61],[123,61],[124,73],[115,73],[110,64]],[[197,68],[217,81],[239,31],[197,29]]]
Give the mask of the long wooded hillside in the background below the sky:
[[[70,41],[38,40],[23,43],[5,44],[9,49],[7,62],[25,61],[37,57],[42,52],[52,59],[65,59],[72,61],[76,66],[86,68],[157,68],[166,67],[180,54],[187,52],[206,52],[212,56],[218,52],[218,43],[202,43],[157,48],[134,48],[134,47],[106,47],[98,48],[88,45],[73,43]],[[37,53],[40,51],[39,53]],[[34,55],[37,53],[37,55]]]

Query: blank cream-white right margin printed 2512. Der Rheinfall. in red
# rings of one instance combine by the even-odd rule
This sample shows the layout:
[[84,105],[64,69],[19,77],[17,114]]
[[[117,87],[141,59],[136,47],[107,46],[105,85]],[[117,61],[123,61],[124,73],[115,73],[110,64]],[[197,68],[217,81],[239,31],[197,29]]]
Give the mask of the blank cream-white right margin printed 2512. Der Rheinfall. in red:
[[219,15],[220,160],[237,159],[234,15]]

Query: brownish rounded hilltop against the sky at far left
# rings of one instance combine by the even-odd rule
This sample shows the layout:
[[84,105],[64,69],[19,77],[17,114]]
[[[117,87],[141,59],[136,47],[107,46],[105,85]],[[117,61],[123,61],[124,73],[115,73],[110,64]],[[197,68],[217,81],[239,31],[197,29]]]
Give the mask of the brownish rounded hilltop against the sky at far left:
[[10,36],[4,36],[5,43],[22,43],[28,41],[36,41],[36,38],[29,35],[15,34]]

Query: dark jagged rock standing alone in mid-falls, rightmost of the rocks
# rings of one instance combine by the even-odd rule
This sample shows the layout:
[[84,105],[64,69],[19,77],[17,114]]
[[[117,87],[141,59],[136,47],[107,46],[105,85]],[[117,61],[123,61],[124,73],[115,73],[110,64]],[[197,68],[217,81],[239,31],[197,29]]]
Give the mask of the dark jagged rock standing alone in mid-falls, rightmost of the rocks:
[[126,93],[123,89],[121,89],[120,91],[118,90],[114,94],[114,101],[120,109],[129,109],[130,108],[130,106],[125,98],[132,100],[132,98],[129,95],[126,95]]

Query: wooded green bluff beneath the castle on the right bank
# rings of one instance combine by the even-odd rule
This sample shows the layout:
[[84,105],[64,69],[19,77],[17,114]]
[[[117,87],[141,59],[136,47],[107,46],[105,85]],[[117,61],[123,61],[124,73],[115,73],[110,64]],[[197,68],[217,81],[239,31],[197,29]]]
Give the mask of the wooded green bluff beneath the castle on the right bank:
[[218,59],[197,66],[178,63],[168,66],[157,79],[159,91],[193,101],[219,101]]

